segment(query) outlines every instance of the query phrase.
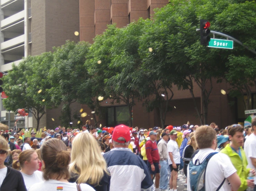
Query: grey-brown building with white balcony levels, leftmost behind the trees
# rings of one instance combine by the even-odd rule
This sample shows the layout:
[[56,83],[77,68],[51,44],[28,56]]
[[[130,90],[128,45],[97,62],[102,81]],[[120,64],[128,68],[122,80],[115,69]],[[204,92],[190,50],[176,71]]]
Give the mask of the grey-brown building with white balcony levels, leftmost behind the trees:
[[[2,72],[8,73],[12,63],[19,64],[23,57],[52,51],[52,47],[61,46],[66,40],[79,41],[79,36],[74,35],[79,31],[79,0],[0,0],[0,5]],[[2,99],[1,122],[8,124],[9,113],[3,108]],[[40,127],[58,126],[60,109],[47,109]],[[26,118],[10,116],[10,127],[17,119],[18,127],[36,127],[32,114]]]

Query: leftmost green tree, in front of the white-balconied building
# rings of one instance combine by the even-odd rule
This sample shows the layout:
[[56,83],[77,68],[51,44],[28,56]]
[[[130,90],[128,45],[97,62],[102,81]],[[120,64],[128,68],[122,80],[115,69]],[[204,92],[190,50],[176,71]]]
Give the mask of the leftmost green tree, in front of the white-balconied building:
[[[12,71],[3,78],[3,87],[9,96],[3,100],[3,106],[7,111],[15,113],[19,108],[31,111],[37,120],[36,130],[39,128],[40,119],[46,113],[46,108],[54,107],[48,91],[51,86],[47,81],[52,59],[51,52],[29,56],[18,66],[13,64]],[[42,91],[38,93],[39,90]]]

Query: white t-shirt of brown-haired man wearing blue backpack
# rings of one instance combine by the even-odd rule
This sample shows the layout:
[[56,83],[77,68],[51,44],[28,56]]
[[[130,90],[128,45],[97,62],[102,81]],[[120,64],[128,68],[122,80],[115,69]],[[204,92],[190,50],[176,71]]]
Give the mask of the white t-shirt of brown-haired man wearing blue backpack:
[[[200,151],[193,158],[193,163],[198,159],[200,163],[212,152],[213,149],[200,149]],[[228,178],[237,170],[231,163],[228,155],[224,153],[217,153],[209,160],[206,167],[205,174],[205,190],[217,190],[224,178]],[[219,191],[231,191],[231,187],[226,179]],[[191,191],[189,181],[189,164],[187,167],[187,190]]]

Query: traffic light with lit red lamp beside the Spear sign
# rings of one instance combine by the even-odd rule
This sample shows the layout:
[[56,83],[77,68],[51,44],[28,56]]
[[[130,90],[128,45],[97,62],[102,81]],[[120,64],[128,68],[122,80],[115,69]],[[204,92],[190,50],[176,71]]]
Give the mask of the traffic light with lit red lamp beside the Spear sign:
[[209,42],[211,40],[210,35],[210,29],[209,27],[211,26],[210,22],[208,20],[200,20],[200,42],[203,46],[209,46]]

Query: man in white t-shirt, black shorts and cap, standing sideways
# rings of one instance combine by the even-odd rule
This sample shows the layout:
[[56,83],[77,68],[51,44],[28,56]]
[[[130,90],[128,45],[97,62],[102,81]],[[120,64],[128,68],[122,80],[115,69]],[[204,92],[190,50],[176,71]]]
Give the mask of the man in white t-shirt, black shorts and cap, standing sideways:
[[177,191],[178,167],[180,164],[179,146],[176,142],[177,134],[176,130],[171,130],[171,139],[167,143],[168,164],[171,170],[170,191]]

